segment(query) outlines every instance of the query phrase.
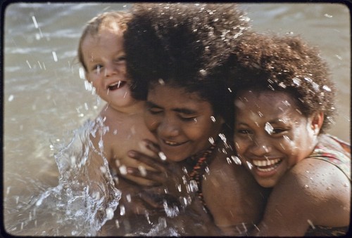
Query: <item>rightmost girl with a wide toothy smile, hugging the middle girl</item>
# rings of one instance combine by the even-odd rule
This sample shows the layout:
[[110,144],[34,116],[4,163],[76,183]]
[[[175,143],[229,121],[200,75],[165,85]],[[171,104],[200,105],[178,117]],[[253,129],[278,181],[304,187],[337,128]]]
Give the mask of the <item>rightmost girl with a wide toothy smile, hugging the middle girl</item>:
[[296,37],[248,34],[234,47],[234,145],[272,187],[259,236],[346,234],[350,145],[325,133],[334,84],[315,48]]

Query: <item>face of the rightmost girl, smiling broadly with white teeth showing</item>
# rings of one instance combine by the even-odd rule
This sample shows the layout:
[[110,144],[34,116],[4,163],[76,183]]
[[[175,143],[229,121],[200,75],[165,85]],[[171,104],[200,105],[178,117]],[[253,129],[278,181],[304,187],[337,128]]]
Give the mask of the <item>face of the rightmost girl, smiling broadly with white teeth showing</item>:
[[235,108],[237,152],[263,187],[277,184],[318,143],[322,116],[303,116],[287,93],[243,91]]

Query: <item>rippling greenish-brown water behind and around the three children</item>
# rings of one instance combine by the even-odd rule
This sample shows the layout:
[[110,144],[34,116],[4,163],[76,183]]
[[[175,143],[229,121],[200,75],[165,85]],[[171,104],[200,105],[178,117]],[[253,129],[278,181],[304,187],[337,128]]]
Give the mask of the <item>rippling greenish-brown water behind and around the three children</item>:
[[[4,224],[20,235],[99,235],[120,192],[89,191],[87,119],[103,103],[75,60],[87,20],[129,4],[11,4],[4,22]],[[350,21],[340,4],[240,4],[253,29],[301,34],[322,52],[339,89],[330,133],[350,140]],[[77,178],[80,174],[80,178]],[[157,227],[156,227],[157,228]],[[153,231],[151,231],[153,232]],[[158,234],[158,230],[153,233]],[[163,233],[165,235],[165,233]],[[169,234],[175,234],[170,232]]]

